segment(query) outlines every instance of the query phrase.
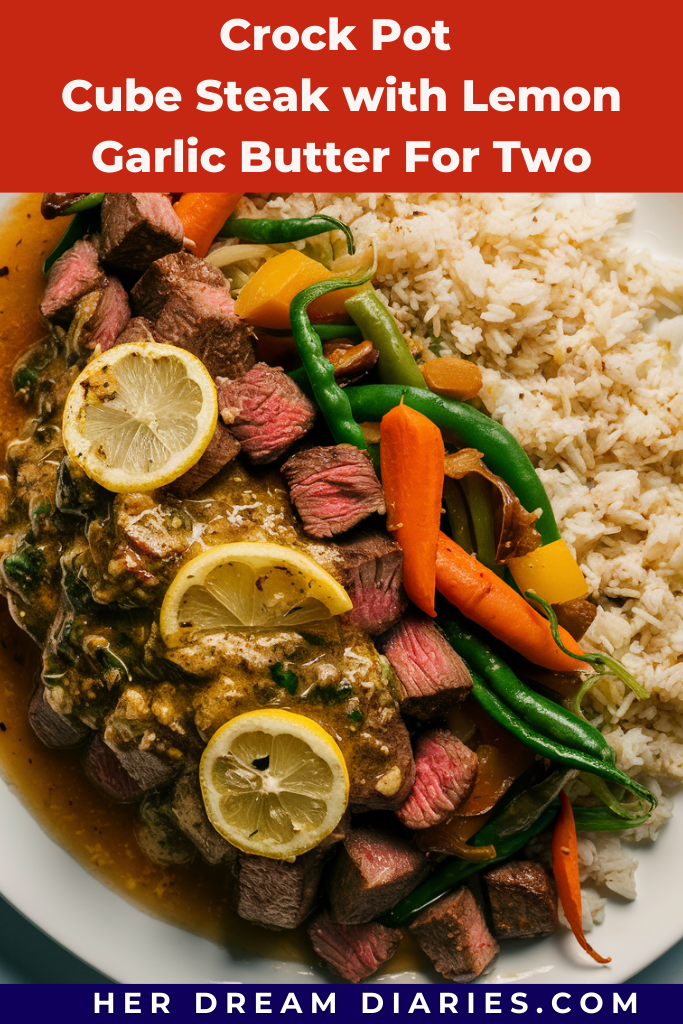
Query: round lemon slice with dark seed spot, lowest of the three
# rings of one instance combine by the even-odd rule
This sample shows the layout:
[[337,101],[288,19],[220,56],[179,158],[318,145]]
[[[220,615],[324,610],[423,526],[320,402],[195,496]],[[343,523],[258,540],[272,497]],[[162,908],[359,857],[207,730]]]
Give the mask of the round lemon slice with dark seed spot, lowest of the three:
[[209,819],[245,853],[290,860],[329,836],[346,810],[348,773],[335,740],[289,711],[250,711],[222,725],[200,764]]

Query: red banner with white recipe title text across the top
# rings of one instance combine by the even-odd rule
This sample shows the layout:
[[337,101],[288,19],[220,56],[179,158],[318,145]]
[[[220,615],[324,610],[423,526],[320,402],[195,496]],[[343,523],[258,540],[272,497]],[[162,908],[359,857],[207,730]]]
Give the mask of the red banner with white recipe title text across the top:
[[4,190],[681,188],[680,2],[6,6]]

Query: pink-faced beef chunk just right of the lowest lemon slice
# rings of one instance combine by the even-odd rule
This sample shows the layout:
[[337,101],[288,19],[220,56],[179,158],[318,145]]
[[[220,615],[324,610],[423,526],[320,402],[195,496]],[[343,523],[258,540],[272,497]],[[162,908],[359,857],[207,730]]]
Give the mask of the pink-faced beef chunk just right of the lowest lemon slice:
[[430,729],[415,748],[415,784],[396,815],[409,828],[444,821],[472,792],[477,756],[449,729]]

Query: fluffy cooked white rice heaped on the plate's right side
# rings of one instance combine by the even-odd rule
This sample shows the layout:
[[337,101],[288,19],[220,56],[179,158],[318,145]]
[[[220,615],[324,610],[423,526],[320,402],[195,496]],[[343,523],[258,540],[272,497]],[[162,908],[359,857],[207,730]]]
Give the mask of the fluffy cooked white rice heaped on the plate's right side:
[[[359,246],[374,242],[413,347],[481,367],[487,411],[538,465],[599,597],[587,640],[651,693],[639,703],[609,678],[593,690],[595,722],[620,765],[660,792],[655,778],[683,778],[683,264],[629,247],[620,218],[633,207],[626,195],[267,201],[269,216],[324,211]],[[670,816],[663,795],[628,838],[653,839]],[[580,851],[584,880],[635,895],[636,861],[613,833],[583,838]],[[599,897],[586,902],[599,915]]]

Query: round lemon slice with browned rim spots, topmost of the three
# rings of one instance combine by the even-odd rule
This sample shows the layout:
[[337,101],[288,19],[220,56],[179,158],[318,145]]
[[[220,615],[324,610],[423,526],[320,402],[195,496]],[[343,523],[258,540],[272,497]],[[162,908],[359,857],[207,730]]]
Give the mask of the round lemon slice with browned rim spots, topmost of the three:
[[204,364],[175,345],[130,342],[96,356],[65,406],[74,462],[108,490],[153,490],[181,476],[216,428],[216,389]]

